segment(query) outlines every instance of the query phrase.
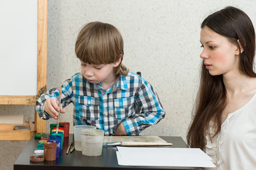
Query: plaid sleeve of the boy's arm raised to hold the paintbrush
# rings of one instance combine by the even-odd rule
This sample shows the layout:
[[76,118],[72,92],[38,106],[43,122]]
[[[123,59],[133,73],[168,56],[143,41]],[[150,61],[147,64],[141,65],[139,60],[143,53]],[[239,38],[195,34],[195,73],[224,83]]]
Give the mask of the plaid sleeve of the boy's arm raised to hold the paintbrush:
[[[73,96],[73,91],[70,84],[72,84],[70,79],[66,80],[63,84],[62,95],[61,95],[62,96],[61,105],[63,108],[65,108],[65,106],[68,106],[68,104],[72,101],[71,98]],[[46,111],[44,110],[44,105],[48,98],[52,98],[52,97],[59,98],[59,95],[60,95],[60,89],[52,88],[49,91],[47,91],[46,94],[42,94],[41,97],[38,98],[38,100],[36,101],[36,111],[38,112],[38,115],[40,118],[45,120],[48,120],[49,118],[51,118],[51,116],[48,115],[48,113],[46,113]]]

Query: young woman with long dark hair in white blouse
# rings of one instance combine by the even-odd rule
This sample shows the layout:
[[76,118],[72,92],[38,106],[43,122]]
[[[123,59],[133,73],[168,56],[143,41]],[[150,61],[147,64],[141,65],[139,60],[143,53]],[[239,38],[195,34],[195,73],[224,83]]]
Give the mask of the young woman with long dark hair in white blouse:
[[201,25],[203,59],[188,145],[203,149],[216,169],[256,169],[255,30],[238,8]]

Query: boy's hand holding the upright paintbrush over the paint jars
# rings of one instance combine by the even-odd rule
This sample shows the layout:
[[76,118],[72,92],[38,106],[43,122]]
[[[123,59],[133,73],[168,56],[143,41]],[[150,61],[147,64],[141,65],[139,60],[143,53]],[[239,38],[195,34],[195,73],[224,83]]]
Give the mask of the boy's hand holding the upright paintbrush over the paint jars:
[[44,110],[54,119],[57,119],[58,111],[60,111],[60,113],[65,113],[65,110],[62,107],[58,107],[58,99],[55,97],[46,99]]

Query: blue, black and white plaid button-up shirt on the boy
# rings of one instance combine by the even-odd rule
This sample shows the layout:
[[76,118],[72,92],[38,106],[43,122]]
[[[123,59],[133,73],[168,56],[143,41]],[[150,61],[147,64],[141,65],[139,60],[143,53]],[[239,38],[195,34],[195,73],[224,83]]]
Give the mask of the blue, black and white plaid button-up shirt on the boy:
[[[153,87],[142,77],[129,72],[119,76],[110,89],[92,84],[77,73],[63,83],[61,104],[63,108],[73,103],[74,125],[95,125],[114,135],[119,123],[124,124],[127,135],[140,135],[142,130],[158,123],[165,112]],[[60,90],[53,88],[36,101],[40,118],[48,119],[44,112],[47,98],[59,98]]]

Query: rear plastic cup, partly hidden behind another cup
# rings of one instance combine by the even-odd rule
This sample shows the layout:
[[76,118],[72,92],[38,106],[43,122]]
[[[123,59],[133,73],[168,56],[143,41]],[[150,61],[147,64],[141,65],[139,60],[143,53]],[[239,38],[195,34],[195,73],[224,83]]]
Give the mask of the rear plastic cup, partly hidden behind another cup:
[[75,150],[78,150],[78,151],[82,151],[81,130],[83,129],[96,129],[96,127],[92,125],[75,125],[74,126]]

